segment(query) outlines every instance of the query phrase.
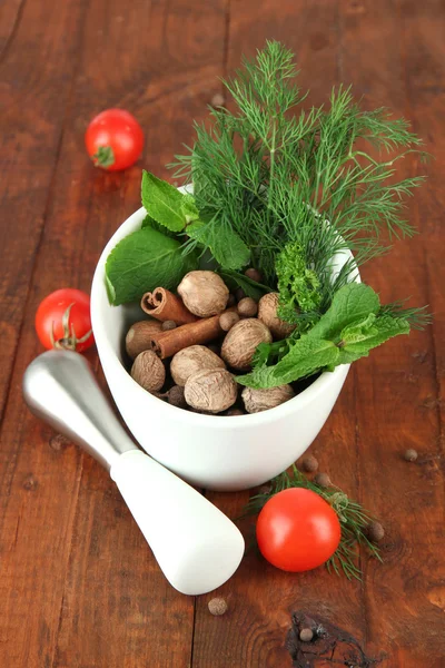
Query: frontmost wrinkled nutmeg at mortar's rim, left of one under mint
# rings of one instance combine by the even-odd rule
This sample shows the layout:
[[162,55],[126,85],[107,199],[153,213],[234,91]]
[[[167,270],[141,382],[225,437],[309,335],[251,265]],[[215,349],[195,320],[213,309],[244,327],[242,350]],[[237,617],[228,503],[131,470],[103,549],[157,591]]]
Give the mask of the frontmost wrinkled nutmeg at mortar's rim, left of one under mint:
[[221,413],[237,400],[237,383],[225,369],[206,369],[194,373],[185,387],[186,402],[206,413]]

